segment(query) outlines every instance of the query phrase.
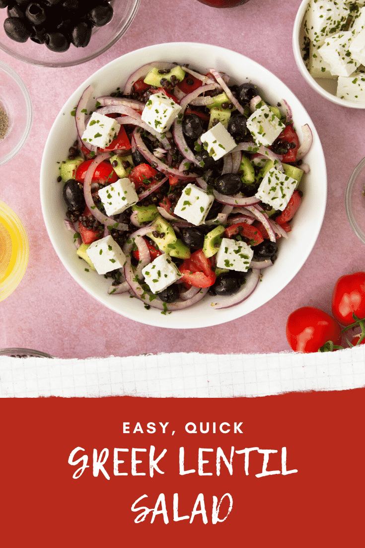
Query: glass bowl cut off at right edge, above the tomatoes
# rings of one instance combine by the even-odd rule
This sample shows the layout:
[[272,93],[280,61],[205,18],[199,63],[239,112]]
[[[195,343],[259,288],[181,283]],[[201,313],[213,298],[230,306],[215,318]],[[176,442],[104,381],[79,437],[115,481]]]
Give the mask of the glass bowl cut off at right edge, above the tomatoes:
[[356,166],[347,183],[345,204],[352,230],[365,243],[365,158]]

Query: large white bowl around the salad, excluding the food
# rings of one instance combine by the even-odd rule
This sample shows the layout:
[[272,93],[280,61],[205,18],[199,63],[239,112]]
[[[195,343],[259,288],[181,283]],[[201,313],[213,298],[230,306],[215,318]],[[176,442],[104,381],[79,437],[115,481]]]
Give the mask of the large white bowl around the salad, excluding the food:
[[[302,125],[309,124],[313,133],[313,144],[305,158],[311,171],[301,184],[303,202],[293,220],[293,230],[288,239],[280,242],[275,264],[263,272],[262,282],[252,295],[229,309],[213,310],[212,299],[206,296],[189,309],[164,315],[152,307],[146,310],[143,302],[131,299],[128,294],[108,295],[110,279],[108,281],[95,272],[85,272],[83,261],[76,255],[73,237],[64,224],[66,206],[62,198],[62,186],[56,181],[59,175],[57,162],[67,157],[68,148],[76,138],[75,119],[70,115],[71,111],[88,85],[95,88],[96,94],[108,94],[123,86],[136,68],[154,60],[190,63],[192,67],[201,69],[215,67],[218,71],[228,73],[237,83],[248,78],[264,91],[266,100],[271,104],[277,104],[282,99],[289,103],[300,140]],[[251,59],[225,48],[189,42],[166,43],[142,48],[115,59],[90,76],[71,95],[57,116],[45,145],[40,171],[40,194],[51,242],[63,265],[80,286],[109,309],[135,321],[166,328],[199,328],[228,322],[256,310],[279,293],[297,274],[321,229],[326,208],[327,173],[322,146],[313,122],[298,99],[276,76]]]

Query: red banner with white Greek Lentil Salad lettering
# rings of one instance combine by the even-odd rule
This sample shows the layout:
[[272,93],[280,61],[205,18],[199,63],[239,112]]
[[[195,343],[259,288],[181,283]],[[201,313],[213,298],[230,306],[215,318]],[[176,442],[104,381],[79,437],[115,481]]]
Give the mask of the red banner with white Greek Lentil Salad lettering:
[[364,396],[2,399],[2,545],[360,546]]

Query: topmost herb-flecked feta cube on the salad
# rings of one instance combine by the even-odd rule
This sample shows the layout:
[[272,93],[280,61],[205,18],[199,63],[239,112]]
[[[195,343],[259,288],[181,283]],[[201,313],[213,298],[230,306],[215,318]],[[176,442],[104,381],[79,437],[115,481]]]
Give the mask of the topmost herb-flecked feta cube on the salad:
[[181,111],[181,106],[165,93],[150,95],[142,112],[142,120],[150,125],[158,133],[164,133],[170,129],[172,122]]

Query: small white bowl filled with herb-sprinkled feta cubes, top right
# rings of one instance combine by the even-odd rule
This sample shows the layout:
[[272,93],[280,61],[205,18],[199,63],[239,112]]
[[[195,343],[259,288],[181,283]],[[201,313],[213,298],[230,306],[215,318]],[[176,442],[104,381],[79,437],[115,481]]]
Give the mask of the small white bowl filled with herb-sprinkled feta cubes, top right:
[[293,28],[300,73],[317,93],[338,105],[365,109],[365,5],[303,0]]

